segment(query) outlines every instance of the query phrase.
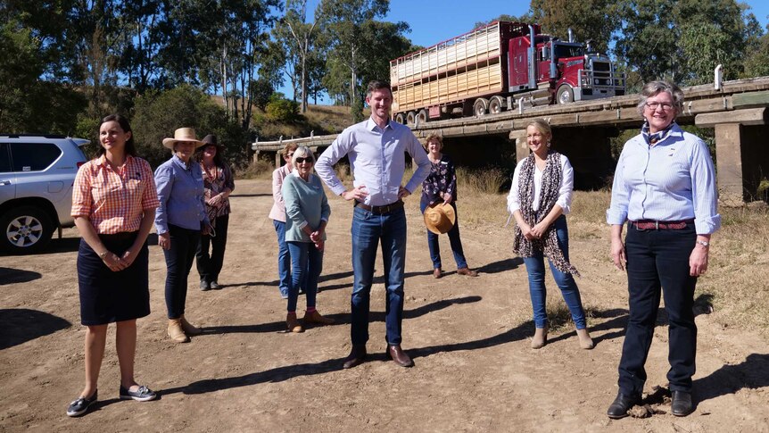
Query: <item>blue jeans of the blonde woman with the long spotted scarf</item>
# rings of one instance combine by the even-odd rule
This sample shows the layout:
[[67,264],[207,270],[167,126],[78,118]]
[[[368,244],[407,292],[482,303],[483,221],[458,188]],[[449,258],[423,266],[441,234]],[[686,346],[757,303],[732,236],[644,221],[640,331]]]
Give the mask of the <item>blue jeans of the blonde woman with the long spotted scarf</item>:
[[[569,239],[568,227],[566,226],[566,216],[561,215],[553,223],[558,236],[558,246],[564,253],[566,261],[569,260]],[[558,271],[553,262],[550,262],[550,271],[553,273],[553,279],[561,289],[561,295],[566,301],[569,312],[572,314],[572,320],[575,322],[576,329],[585,329],[584,310],[582,299],[579,296],[579,288],[576,286],[574,277],[571,274]],[[547,289],[545,288],[545,263],[542,251],[534,253],[533,257],[524,257],[526,273],[529,275],[529,293],[532,296],[532,308],[534,312],[534,325],[537,328],[544,328],[548,323],[548,314],[545,309],[545,300],[547,299]]]

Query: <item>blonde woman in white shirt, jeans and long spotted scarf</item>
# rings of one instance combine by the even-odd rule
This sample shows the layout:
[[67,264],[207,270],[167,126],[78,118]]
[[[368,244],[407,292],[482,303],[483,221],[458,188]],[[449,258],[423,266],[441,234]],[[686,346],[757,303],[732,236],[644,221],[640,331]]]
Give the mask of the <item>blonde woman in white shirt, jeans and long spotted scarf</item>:
[[561,295],[575,322],[580,347],[591,349],[593,342],[585,323],[582,300],[573,275],[579,276],[568,261],[566,213],[571,204],[574,169],[565,155],[550,150],[552,131],[542,119],[526,126],[526,143],[532,153],[518,162],[508,196],[508,209],[516,219],[513,250],[523,257],[529,275],[534,326],[532,348],[547,344],[548,317],[545,310],[545,265],[561,289]]

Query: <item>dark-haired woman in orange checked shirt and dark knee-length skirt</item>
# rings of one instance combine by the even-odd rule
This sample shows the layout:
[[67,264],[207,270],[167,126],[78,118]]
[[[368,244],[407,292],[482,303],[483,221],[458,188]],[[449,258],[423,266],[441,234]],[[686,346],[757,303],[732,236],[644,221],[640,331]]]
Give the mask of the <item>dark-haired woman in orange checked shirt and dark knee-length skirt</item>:
[[107,326],[117,326],[120,398],[148,401],[155,393],[134,379],[136,319],[150,313],[147,235],[158,206],[150,164],[136,157],[128,121],[112,114],[99,126],[99,151],[80,167],[72,217],[80,231],[80,321],[86,331],[86,386],[67,415],[96,401]]

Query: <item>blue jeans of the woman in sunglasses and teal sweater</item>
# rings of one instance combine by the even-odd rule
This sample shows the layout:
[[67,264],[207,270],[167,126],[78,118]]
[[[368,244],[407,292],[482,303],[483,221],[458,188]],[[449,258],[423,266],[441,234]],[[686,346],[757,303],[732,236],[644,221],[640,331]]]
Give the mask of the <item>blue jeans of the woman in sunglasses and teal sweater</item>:
[[299,287],[304,284],[307,307],[315,306],[318,293],[318,276],[323,271],[323,252],[311,242],[286,242],[291,253],[292,279],[288,289],[288,312],[296,311]]

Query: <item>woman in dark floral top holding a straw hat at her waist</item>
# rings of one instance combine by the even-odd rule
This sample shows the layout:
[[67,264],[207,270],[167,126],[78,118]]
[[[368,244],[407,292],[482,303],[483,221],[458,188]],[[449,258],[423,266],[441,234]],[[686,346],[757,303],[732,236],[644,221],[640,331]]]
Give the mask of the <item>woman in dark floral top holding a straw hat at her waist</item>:
[[[454,162],[447,154],[442,154],[443,141],[435,134],[427,137],[427,157],[430,159],[430,174],[422,183],[422,200],[419,207],[425,213],[427,206],[433,204],[451,204],[454,214],[457,214],[457,174],[454,171]],[[462,251],[462,241],[459,240],[459,216],[454,226],[449,230],[449,242],[454,260],[457,262],[457,273],[470,277],[477,277],[478,273],[467,268],[465,253]],[[427,230],[427,246],[430,247],[430,258],[433,260],[433,276],[441,278],[441,249],[438,246],[438,235]]]

